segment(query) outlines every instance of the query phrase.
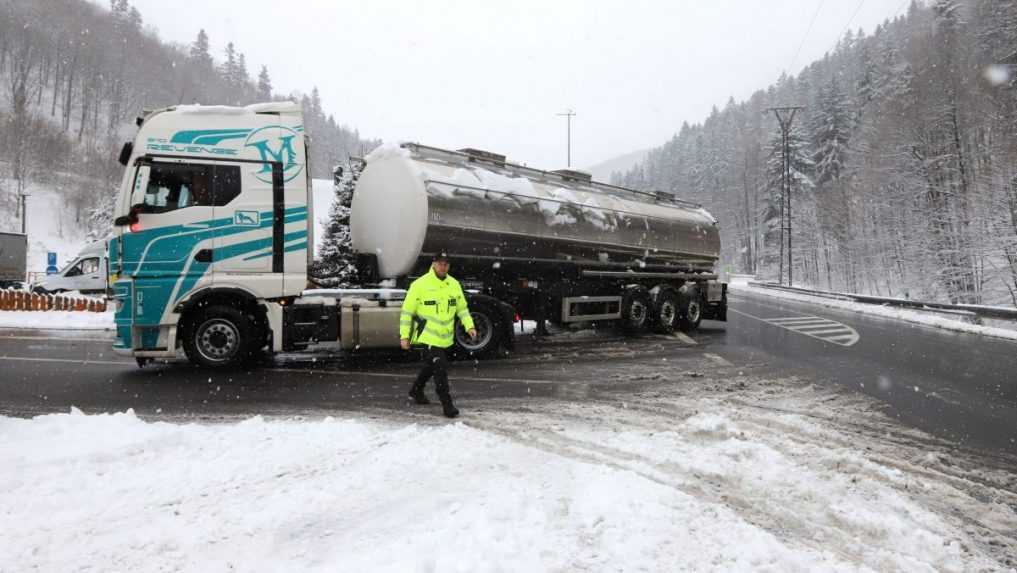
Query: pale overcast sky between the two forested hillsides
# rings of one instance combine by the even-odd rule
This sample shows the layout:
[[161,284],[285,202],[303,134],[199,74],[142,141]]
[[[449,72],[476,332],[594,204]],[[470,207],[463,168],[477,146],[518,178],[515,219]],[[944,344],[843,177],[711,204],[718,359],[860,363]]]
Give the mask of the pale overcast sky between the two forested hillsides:
[[132,0],[164,40],[189,44],[203,27],[217,60],[232,41],[252,76],[268,66],[277,92],[317,85],[365,137],[544,169],[564,167],[556,114],[569,108],[574,167],[659,146],[906,3]]

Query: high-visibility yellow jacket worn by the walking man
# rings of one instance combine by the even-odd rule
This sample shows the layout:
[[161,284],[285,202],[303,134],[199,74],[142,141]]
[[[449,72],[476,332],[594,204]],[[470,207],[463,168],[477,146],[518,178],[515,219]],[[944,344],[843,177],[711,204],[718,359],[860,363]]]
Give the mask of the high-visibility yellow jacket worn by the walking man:
[[399,317],[399,338],[410,344],[448,348],[456,333],[456,319],[463,328],[473,328],[473,318],[459,281],[445,275],[441,280],[434,270],[413,281],[403,301]]

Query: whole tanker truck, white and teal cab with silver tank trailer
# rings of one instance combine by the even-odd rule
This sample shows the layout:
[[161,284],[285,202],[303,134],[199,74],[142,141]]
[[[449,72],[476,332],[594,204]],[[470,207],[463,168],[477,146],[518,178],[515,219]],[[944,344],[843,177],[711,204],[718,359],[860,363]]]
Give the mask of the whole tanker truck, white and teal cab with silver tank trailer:
[[445,250],[495,354],[521,317],[630,334],[726,320],[716,220],[668,193],[479,150],[384,145],[353,195],[357,288],[312,288],[311,145],[299,105],[175,106],[138,118],[110,241],[114,350],[236,365],[265,352],[399,347],[402,299]]

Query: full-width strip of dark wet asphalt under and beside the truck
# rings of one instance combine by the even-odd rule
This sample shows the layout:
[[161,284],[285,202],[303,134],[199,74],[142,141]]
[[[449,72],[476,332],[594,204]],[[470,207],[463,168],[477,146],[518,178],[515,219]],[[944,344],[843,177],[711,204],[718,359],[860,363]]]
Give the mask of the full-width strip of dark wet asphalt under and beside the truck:
[[[454,362],[451,378],[469,411],[496,408],[499,399],[576,401],[607,389],[616,396],[653,380],[633,373],[710,364],[838,385],[959,447],[1017,453],[1017,343],[744,292],[732,294],[728,323],[704,322],[687,337],[523,335],[505,357]],[[172,419],[419,411],[406,399],[416,368],[416,357],[400,351],[287,354],[229,371],[182,360],[139,368],[112,353],[109,334],[0,329],[0,414],[71,406]],[[438,415],[437,406],[424,408]]]

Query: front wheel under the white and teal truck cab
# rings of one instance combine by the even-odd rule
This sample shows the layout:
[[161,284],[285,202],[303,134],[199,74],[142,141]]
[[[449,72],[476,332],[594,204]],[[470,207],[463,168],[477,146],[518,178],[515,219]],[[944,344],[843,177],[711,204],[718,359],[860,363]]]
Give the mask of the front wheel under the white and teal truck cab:
[[232,306],[201,309],[184,329],[184,353],[191,362],[210,368],[244,363],[264,340],[251,317]]

